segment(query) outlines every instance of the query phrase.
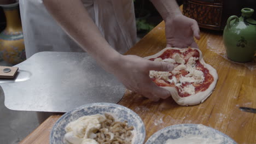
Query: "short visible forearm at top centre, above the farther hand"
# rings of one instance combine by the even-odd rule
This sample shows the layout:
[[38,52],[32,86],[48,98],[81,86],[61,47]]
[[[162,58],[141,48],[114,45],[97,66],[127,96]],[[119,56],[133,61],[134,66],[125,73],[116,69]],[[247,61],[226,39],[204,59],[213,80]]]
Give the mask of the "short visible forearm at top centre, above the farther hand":
[[175,0],[150,1],[154,4],[155,8],[158,10],[164,21],[166,21],[167,19],[171,19],[173,16],[182,14]]

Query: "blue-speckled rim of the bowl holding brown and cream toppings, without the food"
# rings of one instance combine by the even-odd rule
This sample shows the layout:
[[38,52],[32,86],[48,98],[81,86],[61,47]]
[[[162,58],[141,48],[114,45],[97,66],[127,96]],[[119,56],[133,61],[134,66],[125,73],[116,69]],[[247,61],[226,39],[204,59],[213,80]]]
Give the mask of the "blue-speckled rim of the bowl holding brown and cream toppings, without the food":
[[63,138],[66,134],[65,127],[69,122],[74,121],[82,116],[95,114],[111,114],[116,121],[127,121],[129,126],[134,127],[133,144],[142,144],[144,142],[146,131],[142,119],[127,107],[112,103],[94,103],[80,106],[72,111],[65,113],[54,124],[50,133],[50,143],[64,143]]

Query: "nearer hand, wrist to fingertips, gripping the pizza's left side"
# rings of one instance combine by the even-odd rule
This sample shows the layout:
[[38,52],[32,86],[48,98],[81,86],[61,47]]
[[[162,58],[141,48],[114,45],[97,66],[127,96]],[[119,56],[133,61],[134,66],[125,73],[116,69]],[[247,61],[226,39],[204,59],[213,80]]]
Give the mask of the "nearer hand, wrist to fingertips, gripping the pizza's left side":
[[170,63],[149,61],[135,55],[120,55],[118,61],[107,68],[126,88],[153,101],[158,101],[160,98],[166,99],[171,96],[171,93],[155,85],[149,77],[149,70],[171,71],[172,69],[173,65]]

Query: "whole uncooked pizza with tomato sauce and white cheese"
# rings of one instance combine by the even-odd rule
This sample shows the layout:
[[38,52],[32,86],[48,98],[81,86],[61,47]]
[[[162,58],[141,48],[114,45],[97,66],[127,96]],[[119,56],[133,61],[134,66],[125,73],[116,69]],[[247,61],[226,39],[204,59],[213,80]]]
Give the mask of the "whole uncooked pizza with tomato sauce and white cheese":
[[216,86],[217,71],[203,61],[199,49],[166,47],[155,55],[144,58],[175,65],[172,71],[150,71],[149,76],[156,85],[170,91],[172,98],[179,105],[203,103]]

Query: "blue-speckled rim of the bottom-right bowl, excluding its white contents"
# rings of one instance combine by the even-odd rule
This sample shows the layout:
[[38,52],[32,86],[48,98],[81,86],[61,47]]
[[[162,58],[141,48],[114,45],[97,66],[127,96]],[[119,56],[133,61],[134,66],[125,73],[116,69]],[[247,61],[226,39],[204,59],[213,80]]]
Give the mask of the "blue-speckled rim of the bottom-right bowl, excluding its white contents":
[[223,144],[237,144],[229,136],[202,124],[177,124],[166,127],[150,136],[145,144],[165,144],[168,139],[174,140],[186,136],[211,138]]

